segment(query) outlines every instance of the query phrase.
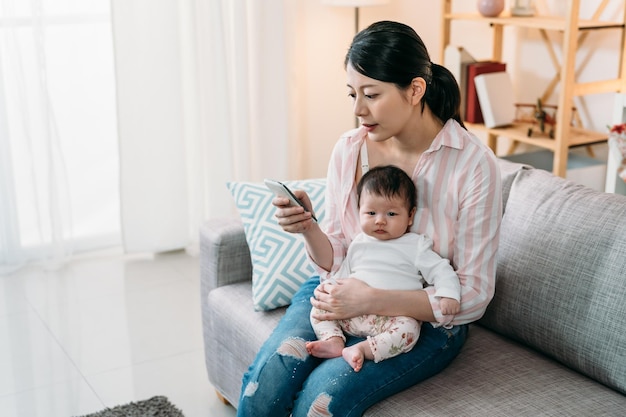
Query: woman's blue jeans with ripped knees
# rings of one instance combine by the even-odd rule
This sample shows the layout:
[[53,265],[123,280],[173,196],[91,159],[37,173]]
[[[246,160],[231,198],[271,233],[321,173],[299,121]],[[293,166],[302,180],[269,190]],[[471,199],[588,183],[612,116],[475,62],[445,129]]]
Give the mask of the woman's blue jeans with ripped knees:
[[[315,340],[309,322],[319,277],[306,281],[243,377],[237,416],[361,416],[367,408],[444,369],[461,350],[467,325],[452,329],[422,325],[415,347],[360,372],[342,358],[309,356],[304,343]],[[347,345],[363,340],[347,336]]]

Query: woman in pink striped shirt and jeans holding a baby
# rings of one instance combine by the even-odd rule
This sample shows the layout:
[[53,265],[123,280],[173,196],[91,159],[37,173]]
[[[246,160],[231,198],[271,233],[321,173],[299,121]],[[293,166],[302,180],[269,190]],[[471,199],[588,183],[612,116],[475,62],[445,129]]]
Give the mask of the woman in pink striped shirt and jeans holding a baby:
[[[303,284],[244,376],[239,416],[360,416],[444,369],[460,351],[467,324],[482,316],[493,297],[500,174],[493,153],[463,127],[454,77],[430,62],[415,31],[396,22],[374,23],[358,33],[345,68],[361,127],[343,135],[333,150],[325,230],[310,212],[274,200],[278,223],[303,234],[319,277]],[[421,205],[411,231],[428,235],[455,269],[462,297],[454,317],[441,314],[432,287],[380,290],[353,278],[324,283],[360,231],[356,183],[370,167],[382,165],[402,168],[417,185]],[[311,207],[304,192],[297,196]],[[325,311],[319,320],[379,314],[424,324],[412,351],[366,362],[357,373],[342,358],[307,354],[305,343],[315,339],[311,305]],[[347,345],[361,340],[348,338]]]

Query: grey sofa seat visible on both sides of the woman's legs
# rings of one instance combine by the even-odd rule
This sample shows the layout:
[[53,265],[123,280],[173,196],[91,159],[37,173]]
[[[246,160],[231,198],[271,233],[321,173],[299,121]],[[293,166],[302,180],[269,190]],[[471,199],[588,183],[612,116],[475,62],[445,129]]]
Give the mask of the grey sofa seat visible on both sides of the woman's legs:
[[[203,320],[209,379],[235,407],[244,372],[284,308],[254,311],[250,283],[211,291]],[[421,400],[427,398],[428,400]],[[442,373],[370,408],[365,416],[615,415],[626,397],[520,343],[470,326]]]

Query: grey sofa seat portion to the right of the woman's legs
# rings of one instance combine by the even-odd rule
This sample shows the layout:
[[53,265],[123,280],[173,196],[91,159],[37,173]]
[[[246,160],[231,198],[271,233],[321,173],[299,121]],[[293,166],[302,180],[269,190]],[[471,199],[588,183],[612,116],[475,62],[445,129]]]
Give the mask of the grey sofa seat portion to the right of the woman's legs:
[[615,416],[624,410],[626,397],[620,393],[471,325],[448,368],[374,405],[365,416]]

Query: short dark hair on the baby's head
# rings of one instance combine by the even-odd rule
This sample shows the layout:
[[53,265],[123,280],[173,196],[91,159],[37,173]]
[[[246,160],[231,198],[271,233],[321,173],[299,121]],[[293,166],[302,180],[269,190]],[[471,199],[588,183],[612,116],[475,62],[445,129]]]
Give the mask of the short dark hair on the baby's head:
[[361,177],[356,186],[359,207],[363,191],[386,198],[404,198],[409,212],[417,207],[415,183],[406,172],[394,165],[372,168]]

